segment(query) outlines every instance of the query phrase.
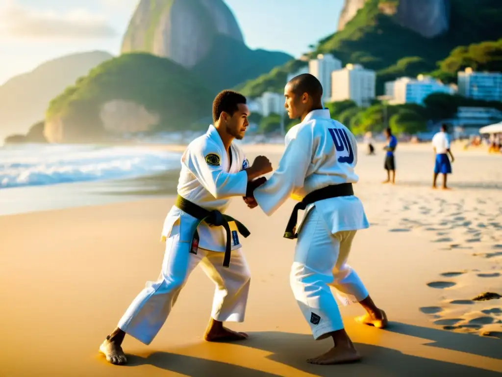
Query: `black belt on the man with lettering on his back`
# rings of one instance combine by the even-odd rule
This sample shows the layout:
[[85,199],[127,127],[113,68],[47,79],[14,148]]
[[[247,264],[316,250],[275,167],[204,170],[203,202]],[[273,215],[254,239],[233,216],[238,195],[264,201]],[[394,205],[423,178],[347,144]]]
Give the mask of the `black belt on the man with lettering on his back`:
[[284,231],[284,238],[289,238],[291,240],[298,237],[296,233],[296,223],[298,221],[298,211],[305,210],[309,204],[318,202],[320,200],[338,198],[338,197],[349,197],[354,195],[354,189],[352,188],[352,183],[341,183],[332,184],[330,186],[323,187],[322,189],[315,190],[310,194],[307,194],[305,198],[300,203],[297,203],[293,208],[291,217],[289,218],[288,225]]

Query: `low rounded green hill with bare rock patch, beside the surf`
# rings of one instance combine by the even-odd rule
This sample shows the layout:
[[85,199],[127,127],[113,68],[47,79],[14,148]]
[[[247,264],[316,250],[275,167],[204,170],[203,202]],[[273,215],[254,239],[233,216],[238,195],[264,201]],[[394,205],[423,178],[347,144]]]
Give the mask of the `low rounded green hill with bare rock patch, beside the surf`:
[[51,101],[44,135],[49,142],[74,143],[188,130],[210,114],[212,100],[212,92],[183,66],[146,53],[122,54]]

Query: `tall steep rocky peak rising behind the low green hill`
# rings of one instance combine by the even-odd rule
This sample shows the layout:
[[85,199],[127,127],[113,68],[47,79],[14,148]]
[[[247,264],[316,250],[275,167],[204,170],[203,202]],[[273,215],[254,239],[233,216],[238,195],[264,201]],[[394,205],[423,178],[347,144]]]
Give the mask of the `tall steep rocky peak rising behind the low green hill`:
[[[199,75],[215,92],[292,58],[283,52],[249,49],[222,0],[141,0],[124,35],[122,52],[169,58]],[[242,55],[249,69],[242,69]]]

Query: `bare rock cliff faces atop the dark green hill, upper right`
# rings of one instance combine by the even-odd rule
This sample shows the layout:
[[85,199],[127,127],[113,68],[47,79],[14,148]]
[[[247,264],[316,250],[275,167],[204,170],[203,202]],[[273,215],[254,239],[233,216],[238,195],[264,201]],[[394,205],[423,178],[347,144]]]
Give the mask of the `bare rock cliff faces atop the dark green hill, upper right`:
[[[338,31],[364,7],[368,0],[345,0]],[[401,26],[413,30],[426,38],[434,38],[448,31],[449,0],[380,0],[382,13],[392,15]]]

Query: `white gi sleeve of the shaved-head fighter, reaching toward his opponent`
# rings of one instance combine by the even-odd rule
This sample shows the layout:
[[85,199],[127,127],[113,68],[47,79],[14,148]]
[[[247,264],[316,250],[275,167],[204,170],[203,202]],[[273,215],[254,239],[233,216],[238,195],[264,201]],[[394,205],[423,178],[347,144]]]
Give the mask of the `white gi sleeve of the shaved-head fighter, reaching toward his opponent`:
[[254,192],[255,200],[267,216],[271,216],[303,187],[312,160],[312,139],[310,127],[303,127],[290,138],[286,136],[286,149],[277,170]]

